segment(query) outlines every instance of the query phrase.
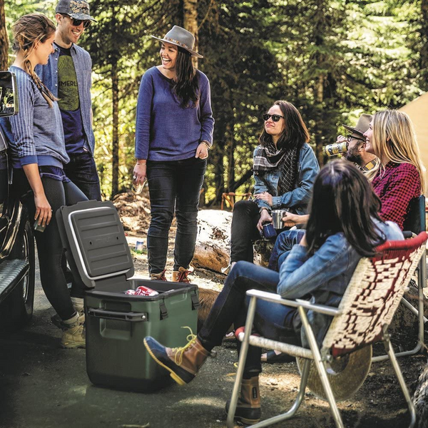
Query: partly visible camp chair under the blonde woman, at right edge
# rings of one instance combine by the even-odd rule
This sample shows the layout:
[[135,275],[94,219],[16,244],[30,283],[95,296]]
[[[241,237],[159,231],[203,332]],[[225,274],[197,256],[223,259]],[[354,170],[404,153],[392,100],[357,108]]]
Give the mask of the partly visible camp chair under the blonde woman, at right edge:
[[[419,198],[414,198],[410,202],[409,206],[409,215],[407,215],[406,220],[404,221],[404,238],[412,238],[418,233],[424,232],[426,229],[426,220],[425,220],[425,197],[424,195],[419,196]],[[416,315],[418,320],[418,334],[417,334],[417,344],[416,346],[409,351],[396,352],[396,357],[406,357],[407,355],[414,355],[424,346],[424,324],[427,322],[427,318],[424,317],[424,292],[423,287],[427,287],[427,252],[424,251],[424,254],[419,261],[419,264],[416,269],[417,273],[417,294],[418,294],[418,304],[417,309],[411,305],[404,297],[402,297],[402,304],[407,307],[414,315]],[[387,355],[379,355],[373,357],[372,361],[382,361],[387,360]]]

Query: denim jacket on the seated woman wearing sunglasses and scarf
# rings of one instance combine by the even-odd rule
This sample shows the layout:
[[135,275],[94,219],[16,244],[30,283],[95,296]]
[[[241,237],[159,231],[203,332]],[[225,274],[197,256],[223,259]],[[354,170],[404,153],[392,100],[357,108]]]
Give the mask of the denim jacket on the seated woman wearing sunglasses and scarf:
[[315,153],[307,143],[303,144],[300,149],[297,170],[298,177],[294,190],[283,195],[278,195],[279,168],[265,174],[255,174],[255,195],[267,192],[273,196],[272,207],[264,200],[256,199],[255,203],[259,208],[266,207],[269,211],[270,209],[292,208],[296,214],[305,214],[315,177],[320,170]]

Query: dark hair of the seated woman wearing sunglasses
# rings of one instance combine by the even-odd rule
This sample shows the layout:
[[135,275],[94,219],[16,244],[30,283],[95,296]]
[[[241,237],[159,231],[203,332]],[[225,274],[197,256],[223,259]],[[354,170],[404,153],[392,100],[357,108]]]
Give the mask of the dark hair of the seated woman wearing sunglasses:
[[[279,106],[282,116],[285,117],[284,131],[282,131],[277,141],[277,148],[292,148],[297,145],[301,146],[303,143],[308,143],[310,140],[309,132],[297,108],[295,108],[292,103],[281,100],[275,101],[273,106]],[[270,141],[272,141],[272,136],[263,128],[259,143],[262,146],[267,146],[267,143],[270,143]]]

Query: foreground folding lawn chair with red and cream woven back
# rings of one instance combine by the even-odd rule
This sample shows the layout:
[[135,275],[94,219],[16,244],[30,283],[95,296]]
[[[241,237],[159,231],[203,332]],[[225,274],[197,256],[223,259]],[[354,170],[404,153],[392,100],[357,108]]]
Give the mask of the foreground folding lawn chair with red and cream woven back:
[[[372,343],[378,340],[384,342],[409,407],[411,419],[409,427],[413,427],[416,420],[414,405],[389,341],[387,328],[404,294],[404,289],[424,253],[427,238],[427,233],[422,232],[417,238],[387,241],[377,247],[378,254],[375,257],[362,258],[338,308],[313,305],[306,300],[286,300],[273,293],[249,290],[247,295],[251,298],[245,330],[242,331],[241,328],[238,329],[241,331],[236,332],[238,340],[241,340],[243,345],[230,400],[228,428],[233,427],[249,345],[279,350],[297,357],[297,365],[302,375],[300,390],[290,410],[259,422],[253,427],[267,427],[290,419],[300,407],[306,387],[309,387],[315,395],[327,399],[336,426],[342,428],[344,425],[336,401],[351,397],[360,388],[370,371]],[[249,334],[253,327],[257,299],[297,307],[310,349]],[[333,317],[321,349],[307,320],[306,310],[309,309]]]

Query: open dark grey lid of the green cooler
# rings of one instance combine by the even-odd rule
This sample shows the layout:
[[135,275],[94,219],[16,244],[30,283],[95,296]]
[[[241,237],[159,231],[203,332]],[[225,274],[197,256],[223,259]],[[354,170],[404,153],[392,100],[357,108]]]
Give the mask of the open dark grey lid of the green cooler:
[[88,287],[106,278],[133,276],[131,251],[113,203],[87,200],[62,207],[58,215],[61,215],[68,250]]

